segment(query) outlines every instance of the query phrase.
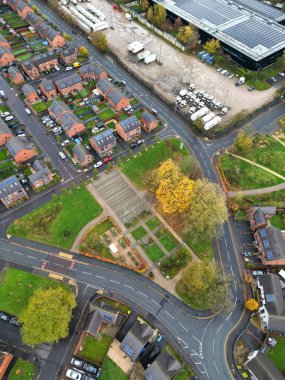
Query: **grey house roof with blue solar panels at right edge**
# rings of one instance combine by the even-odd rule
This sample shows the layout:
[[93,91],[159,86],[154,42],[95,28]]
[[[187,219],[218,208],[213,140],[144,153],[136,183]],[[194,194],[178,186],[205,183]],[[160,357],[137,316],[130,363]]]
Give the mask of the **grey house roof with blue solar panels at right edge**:
[[285,259],[285,240],[277,227],[267,226],[257,231],[268,261]]

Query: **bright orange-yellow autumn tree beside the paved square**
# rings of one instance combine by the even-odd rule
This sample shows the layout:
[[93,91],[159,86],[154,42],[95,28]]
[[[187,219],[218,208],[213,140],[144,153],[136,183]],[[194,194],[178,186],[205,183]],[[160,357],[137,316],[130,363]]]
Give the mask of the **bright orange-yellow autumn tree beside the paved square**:
[[169,159],[157,170],[156,197],[166,214],[181,213],[190,206],[194,181],[186,177]]

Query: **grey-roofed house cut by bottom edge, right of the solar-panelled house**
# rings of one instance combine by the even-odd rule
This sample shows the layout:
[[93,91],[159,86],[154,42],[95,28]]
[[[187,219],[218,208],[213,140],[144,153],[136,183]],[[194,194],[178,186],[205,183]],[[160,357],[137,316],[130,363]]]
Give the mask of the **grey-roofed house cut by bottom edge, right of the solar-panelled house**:
[[172,355],[163,352],[144,371],[145,380],[171,380],[181,369],[181,364]]

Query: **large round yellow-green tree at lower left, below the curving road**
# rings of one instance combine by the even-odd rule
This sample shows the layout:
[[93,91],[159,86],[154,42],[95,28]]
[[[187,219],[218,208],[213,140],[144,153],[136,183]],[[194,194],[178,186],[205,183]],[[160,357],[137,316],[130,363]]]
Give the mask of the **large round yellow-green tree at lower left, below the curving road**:
[[70,289],[58,286],[35,291],[19,317],[23,323],[24,343],[33,347],[66,338],[75,306],[75,297]]

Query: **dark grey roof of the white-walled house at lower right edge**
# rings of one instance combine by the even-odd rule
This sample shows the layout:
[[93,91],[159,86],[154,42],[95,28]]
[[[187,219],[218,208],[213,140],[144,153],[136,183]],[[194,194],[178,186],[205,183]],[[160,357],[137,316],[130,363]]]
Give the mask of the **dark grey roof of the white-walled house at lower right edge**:
[[268,330],[285,332],[285,299],[280,279],[267,273],[259,277],[263,287],[265,307],[269,315]]

